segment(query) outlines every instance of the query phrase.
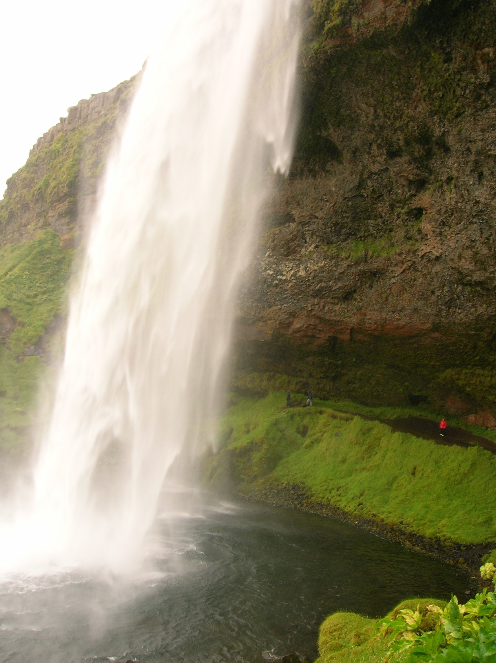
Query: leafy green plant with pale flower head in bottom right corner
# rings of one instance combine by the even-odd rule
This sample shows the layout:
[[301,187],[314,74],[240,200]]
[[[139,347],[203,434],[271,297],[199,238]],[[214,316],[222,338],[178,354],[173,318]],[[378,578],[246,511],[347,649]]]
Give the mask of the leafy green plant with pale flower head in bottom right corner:
[[[481,566],[481,577],[493,579],[495,566]],[[429,619],[426,619],[428,615]],[[428,629],[422,629],[422,623]],[[496,663],[496,594],[484,589],[464,605],[456,596],[441,609],[429,605],[422,615],[404,609],[396,617],[379,623],[379,633],[391,643],[393,652],[408,654],[406,663]]]

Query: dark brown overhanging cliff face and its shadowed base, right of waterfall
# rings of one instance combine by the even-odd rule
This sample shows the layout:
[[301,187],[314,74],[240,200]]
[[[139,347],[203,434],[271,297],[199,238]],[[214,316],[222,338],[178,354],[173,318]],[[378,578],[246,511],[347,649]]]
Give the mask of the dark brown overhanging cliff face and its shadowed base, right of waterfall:
[[373,7],[380,30],[351,14],[307,49],[294,167],[239,300],[237,369],[365,402],[491,408],[495,3],[396,3],[389,25],[380,0],[359,16]]

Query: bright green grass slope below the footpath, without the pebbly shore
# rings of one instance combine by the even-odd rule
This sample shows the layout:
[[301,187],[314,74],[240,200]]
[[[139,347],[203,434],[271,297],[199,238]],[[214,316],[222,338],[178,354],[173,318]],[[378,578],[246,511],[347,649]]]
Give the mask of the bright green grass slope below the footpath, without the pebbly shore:
[[[424,536],[496,540],[496,455],[440,446],[329,407],[286,409],[285,394],[234,398],[221,440],[241,491],[304,483],[318,501]],[[226,471],[220,456],[210,461],[214,485]]]

